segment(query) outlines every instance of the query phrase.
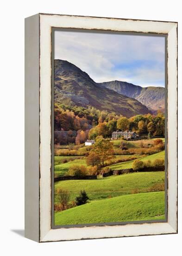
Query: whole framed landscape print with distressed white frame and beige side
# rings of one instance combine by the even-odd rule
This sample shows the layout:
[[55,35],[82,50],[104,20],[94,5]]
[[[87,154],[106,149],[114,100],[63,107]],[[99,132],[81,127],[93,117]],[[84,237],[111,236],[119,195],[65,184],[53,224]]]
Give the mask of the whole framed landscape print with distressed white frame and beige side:
[[25,236],[177,233],[177,22],[25,19]]

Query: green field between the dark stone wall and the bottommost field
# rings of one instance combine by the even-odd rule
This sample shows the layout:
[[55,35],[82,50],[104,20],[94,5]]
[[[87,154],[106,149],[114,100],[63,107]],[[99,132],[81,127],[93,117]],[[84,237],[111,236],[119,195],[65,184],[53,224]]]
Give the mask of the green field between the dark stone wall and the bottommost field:
[[[125,175],[114,175],[97,180],[67,180],[55,182],[57,189],[68,190],[70,201],[75,200],[80,190],[85,189],[91,200],[100,200],[108,197],[126,195],[138,192],[146,192],[156,183],[164,182],[164,172],[131,173]],[[55,198],[55,203],[56,198]]]

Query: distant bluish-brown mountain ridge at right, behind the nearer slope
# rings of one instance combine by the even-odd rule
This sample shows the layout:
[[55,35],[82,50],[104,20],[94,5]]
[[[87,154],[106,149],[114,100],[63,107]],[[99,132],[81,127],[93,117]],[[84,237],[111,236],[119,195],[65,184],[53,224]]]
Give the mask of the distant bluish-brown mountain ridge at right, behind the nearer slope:
[[163,87],[141,87],[123,81],[109,81],[99,83],[101,88],[108,88],[119,94],[134,98],[144,104],[150,110],[161,110],[165,108],[165,88]]

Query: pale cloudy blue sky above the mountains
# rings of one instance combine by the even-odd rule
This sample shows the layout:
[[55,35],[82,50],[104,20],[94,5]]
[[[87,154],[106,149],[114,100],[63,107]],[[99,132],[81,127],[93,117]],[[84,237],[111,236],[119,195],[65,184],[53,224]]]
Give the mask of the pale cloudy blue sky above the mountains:
[[81,31],[55,31],[55,59],[66,60],[95,82],[126,81],[165,86],[165,38]]

